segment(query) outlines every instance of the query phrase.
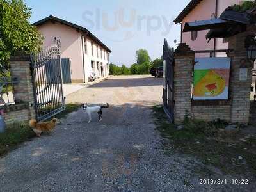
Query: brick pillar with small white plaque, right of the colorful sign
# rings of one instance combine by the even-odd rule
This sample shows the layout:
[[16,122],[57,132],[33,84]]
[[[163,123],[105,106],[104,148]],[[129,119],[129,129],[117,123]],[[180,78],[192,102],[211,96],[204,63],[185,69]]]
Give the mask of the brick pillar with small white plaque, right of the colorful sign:
[[[228,57],[231,58],[231,76],[230,76],[230,98],[231,104],[231,122],[248,124],[250,116],[250,92],[252,85],[252,67],[253,62],[247,58],[245,48],[245,38],[250,34],[255,34],[255,30],[239,33],[228,39],[229,49]],[[242,71],[247,72],[247,77],[241,79]]]

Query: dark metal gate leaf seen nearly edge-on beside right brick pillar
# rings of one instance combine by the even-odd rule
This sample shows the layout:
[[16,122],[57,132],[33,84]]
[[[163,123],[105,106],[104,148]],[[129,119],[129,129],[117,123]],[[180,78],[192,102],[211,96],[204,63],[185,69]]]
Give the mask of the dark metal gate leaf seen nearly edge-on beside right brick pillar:
[[163,109],[170,122],[174,121],[174,49],[166,39],[163,45]]

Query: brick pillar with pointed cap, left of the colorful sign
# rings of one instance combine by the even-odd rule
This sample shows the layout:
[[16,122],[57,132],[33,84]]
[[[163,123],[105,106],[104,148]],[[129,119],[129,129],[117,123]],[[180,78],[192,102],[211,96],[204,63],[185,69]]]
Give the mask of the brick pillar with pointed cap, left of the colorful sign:
[[182,43],[174,52],[174,120],[179,123],[184,120],[186,111],[191,116],[191,88],[193,83],[192,70],[195,51]]

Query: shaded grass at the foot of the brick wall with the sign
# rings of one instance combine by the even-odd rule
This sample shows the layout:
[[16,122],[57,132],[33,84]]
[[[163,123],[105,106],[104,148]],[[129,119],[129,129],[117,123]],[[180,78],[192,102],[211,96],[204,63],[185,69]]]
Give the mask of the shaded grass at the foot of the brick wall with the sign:
[[[204,122],[185,118],[178,130],[177,125],[170,124],[161,106],[154,106],[153,114],[157,129],[163,138],[168,138],[166,154],[173,148],[181,153],[198,157],[203,163],[219,168],[224,173],[239,175],[246,172],[256,173],[256,136],[240,141],[239,133],[223,136],[219,130],[228,124],[218,120]],[[168,148],[172,150],[168,152]],[[243,157],[240,160],[238,157]]]

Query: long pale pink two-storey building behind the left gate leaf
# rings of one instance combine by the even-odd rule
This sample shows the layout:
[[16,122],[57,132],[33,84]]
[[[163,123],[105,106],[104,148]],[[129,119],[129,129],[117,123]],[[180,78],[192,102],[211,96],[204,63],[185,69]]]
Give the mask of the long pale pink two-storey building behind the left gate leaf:
[[96,77],[108,76],[111,50],[86,28],[52,15],[33,25],[44,36],[43,49],[60,40],[61,59],[70,65],[70,83],[86,83],[92,72]]

